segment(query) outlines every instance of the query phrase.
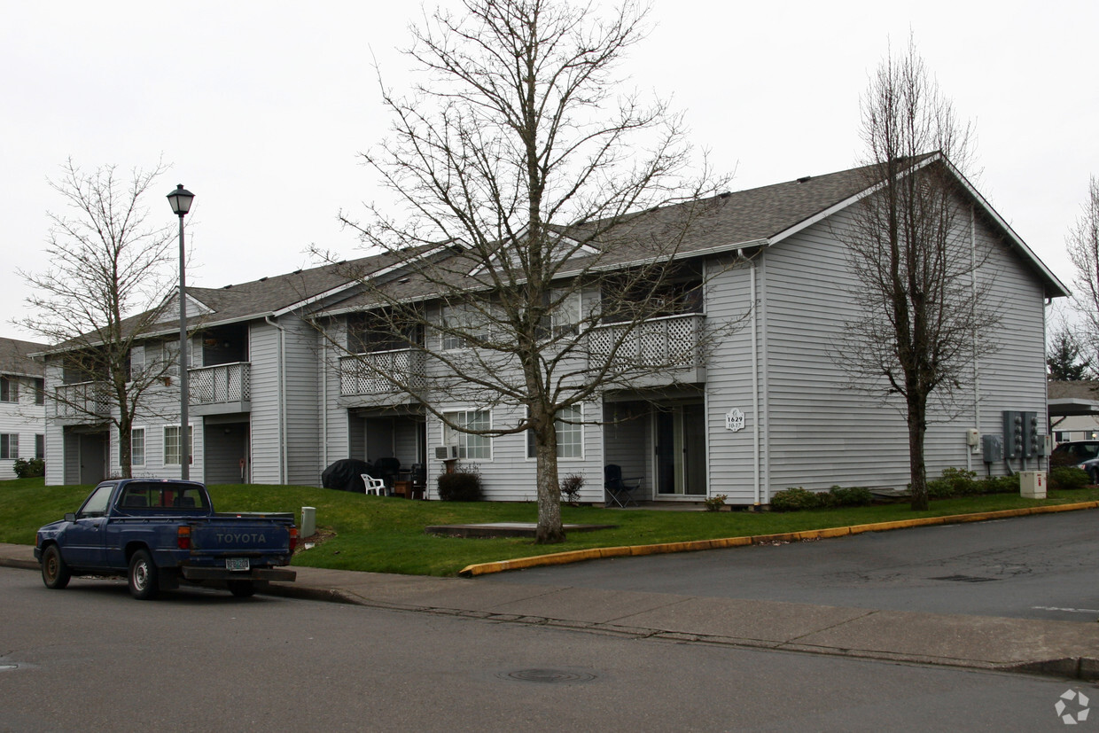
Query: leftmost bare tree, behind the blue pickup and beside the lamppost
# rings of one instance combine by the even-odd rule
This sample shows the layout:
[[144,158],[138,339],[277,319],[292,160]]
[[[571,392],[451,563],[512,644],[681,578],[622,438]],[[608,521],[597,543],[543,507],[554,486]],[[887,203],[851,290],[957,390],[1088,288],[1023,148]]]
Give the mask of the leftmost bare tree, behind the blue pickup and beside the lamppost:
[[87,173],[67,160],[49,181],[66,206],[47,214],[49,265],[20,273],[33,288],[26,298],[32,315],[20,325],[59,347],[66,381],[77,382],[54,389],[48,399],[66,414],[114,426],[126,477],[137,407],[177,366],[170,349],[131,363],[135,341],[171,327],[157,322],[173,282],[174,222],[165,215],[164,225],[148,223],[144,203],[164,169],[158,163],[121,176],[115,166]]

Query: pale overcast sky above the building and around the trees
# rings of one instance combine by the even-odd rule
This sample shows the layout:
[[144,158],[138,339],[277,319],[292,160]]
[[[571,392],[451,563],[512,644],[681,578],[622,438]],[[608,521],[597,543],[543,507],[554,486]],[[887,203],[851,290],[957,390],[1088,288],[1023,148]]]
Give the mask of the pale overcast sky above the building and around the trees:
[[[433,8],[435,3],[428,3]],[[221,287],[358,256],[341,210],[381,199],[357,154],[386,133],[373,59],[419,18],[403,2],[0,0],[0,336],[31,338],[16,269],[43,271],[47,186],[86,169],[171,164],[159,188],[196,193],[188,284]],[[976,124],[977,188],[1072,286],[1065,234],[1099,175],[1099,2],[653,0],[626,63],[671,97],[733,190],[842,170],[861,155],[858,100],[909,31],[957,112]],[[154,216],[175,221],[159,195]]]

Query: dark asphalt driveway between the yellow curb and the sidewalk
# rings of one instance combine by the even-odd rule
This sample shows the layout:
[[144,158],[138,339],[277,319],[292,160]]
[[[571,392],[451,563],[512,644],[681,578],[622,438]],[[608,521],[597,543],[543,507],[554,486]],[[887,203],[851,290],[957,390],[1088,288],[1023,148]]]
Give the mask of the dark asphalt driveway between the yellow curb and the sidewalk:
[[1099,511],[592,560],[488,582],[882,610],[1099,620]]

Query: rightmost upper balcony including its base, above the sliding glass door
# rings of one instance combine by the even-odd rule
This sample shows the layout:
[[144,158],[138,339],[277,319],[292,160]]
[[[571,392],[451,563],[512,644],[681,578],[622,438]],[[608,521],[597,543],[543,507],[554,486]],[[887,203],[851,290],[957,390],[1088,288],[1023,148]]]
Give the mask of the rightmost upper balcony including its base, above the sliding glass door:
[[591,358],[606,357],[619,345],[614,365],[626,374],[637,373],[636,386],[706,381],[706,365],[699,348],[706,319],[701,313],[655,318],[633,326],[608,325],[589,334]]

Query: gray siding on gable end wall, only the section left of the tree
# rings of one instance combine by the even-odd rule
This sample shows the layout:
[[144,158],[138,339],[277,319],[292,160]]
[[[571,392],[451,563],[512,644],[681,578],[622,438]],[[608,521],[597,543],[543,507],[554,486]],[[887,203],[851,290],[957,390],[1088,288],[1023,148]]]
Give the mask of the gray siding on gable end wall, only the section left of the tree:
[[901,487],[908,433],[901,413],[846,389],[836,360],[857,287],[832,227],[822,223],[765,253],[769,495],[789,487]]

